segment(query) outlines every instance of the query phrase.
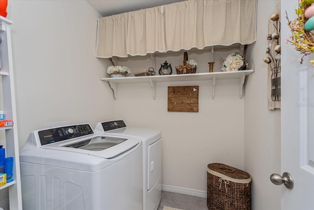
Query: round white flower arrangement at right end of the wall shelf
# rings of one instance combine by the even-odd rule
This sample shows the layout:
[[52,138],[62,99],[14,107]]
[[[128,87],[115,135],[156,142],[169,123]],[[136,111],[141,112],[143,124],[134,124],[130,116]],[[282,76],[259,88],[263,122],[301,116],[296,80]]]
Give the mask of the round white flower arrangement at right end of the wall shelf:
[[249,67],[248,62],[241,53],[232,53],[225,59],[221,59],[222,71],[237,71]]

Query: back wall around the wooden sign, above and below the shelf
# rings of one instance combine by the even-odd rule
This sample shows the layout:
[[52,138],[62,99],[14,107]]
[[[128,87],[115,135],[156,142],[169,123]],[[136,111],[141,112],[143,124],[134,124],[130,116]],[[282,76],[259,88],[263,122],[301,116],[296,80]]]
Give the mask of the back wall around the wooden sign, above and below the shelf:
[[[238,50],[237,50],[238,51]],[[226,52],[217,53],[222,57]],[[228,55],[228,54],[227,54]],[[189,59],[199,64],[197,72],[208,72],[209,52],[189,53]],[[160,55],[175,65],[183,63],[183,53]],[[152,65],[141,57],[119,59],[118,64],[137,71]],[[215,63],[215,70],[221,64]],[[216,81],[215,98],[211,98],[212,81],[157,83],[156,100],[150,84],[118,85],[114,101],[115,118],[124,119],[129,126],[151,127],[162,132],[162,184],[204,191],[207,190],[207,165],[225,163],[239,169],[244,167],[244,99],[239,98],[239,80]],[[168,86],[199,86],[199,112],[168,112]]]

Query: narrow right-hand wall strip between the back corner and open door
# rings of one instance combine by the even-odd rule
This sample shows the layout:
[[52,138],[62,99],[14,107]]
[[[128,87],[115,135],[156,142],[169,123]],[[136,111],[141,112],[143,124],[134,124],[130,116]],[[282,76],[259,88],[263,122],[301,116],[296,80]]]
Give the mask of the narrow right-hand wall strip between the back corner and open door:
[[[281,187],[269,176],[280,173],[280,110],[267,110],[268,18],[279,0],[258,1],[257,41],[247,54],[255,63],[255,73],[246,78],[244,99],[244,168],[252,176],[252,209],[279,210]],[[282,27],[286,27],[282,18]],[[282,44],[286,44],[285,42]]]

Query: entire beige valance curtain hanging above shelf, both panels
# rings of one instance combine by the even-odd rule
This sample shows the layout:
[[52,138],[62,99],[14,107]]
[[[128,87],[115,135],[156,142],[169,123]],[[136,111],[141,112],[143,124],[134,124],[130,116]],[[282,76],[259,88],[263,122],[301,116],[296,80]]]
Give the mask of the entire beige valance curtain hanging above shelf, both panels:
[[98,20],[96,57],[256,41],[256,0],[185,0]]

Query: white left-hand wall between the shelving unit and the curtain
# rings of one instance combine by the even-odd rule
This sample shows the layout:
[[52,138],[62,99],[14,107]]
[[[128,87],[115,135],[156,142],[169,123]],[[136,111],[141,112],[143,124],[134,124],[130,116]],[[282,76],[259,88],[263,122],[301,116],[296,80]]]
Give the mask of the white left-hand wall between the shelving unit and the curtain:
[[51,122],[113,117],[108,64],[95,57],[100,15],[82,0],[9,1],[19,147],[31,130]]

